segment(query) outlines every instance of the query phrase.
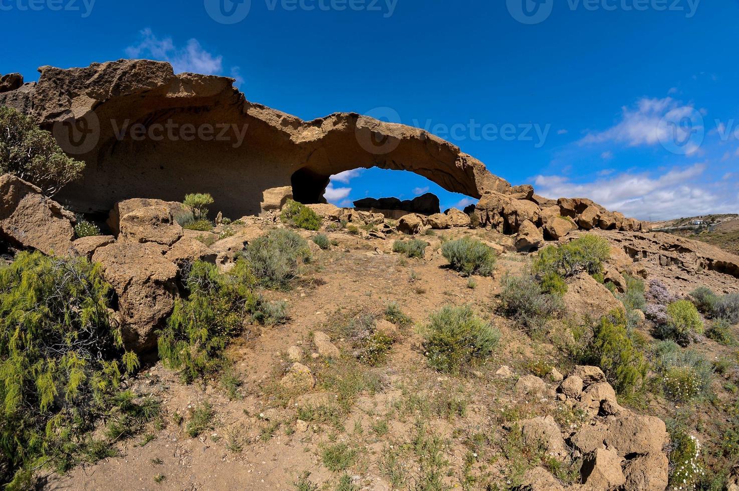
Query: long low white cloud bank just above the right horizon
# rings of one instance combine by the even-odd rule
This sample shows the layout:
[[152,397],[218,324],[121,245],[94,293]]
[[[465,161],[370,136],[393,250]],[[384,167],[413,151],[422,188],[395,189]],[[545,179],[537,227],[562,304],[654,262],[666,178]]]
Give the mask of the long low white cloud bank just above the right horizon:
[[590,183],[573,183],[567,177],[539,175],[535,182],[542,196],[588,197],[607,209],[641,220],[735,211],[739,207],[735,186],[698,182],[705,171],[706,165],[697,163],[655,177],[624,172]]

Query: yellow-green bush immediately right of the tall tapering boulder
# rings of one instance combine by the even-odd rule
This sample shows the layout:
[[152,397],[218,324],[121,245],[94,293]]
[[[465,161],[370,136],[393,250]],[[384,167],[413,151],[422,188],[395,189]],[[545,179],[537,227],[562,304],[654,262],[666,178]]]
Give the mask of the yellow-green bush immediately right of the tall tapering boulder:
[[259,306],[256,280],[244,260],[228,274],[216,265],[196,261],[185,278],[186,299],[174,302],[166,328],[159,331],[159,356],[185,382],[217,371],[223,351],[243,321]]

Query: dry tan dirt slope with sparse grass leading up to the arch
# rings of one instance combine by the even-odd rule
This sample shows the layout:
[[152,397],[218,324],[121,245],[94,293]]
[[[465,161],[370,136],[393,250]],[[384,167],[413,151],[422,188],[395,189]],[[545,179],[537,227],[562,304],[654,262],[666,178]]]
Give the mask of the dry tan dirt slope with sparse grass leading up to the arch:
[[[444,233],[496,239],[489,231]],[[509,365],[517,375],[525,375],[535,371],[538,362],[566,373],[571,362],[551,341],[531,339],[494,312],[500,278],[506,271],[521,271],[528,257],[502,254],[494,277],[474,277],[471,285],[446,267],[439,235],[423,237],[432,245],[423,260],[412,260],[392,254],[393,237],[365,240],[330,234],[339,245],[316,251],[315,260],[290,291],[265,292],[271,299],[287,300],[289,321],[245,334],[231,346],[234,375],[242,382],[233,397],[219,380],[183,385],[161,363],[150,366],[132,388],[163,401],[163,424],[120,443],[117,457],[82,465],[68,475],[47,475],[44,489],[511,487],[515,484],[511,476],[520,475],[537,456],[522,448],[506,428],[544,414],[554,415],[565,427],[577,427],[582,421],[556,401],[553,391],[544,398],[520,396],[513,390],[516,376],[504,378],[495,372]],[[397,302],[413,323],[400,327],[401,337],[383,363],[358,364],[336,337],[341,359],[311,356],[314,331],[332,333],[341,319],[361,312],[382,316],[389,302]],[[446,304],[471,305],[503,333],[494,358],[472,373],[436,373],[420,352],[418,326]],[[556,338],[556,332],[552,334]],[[317,381],[313,390],[296,397],[277,388],[291,363],[287,357],[291,346],[302,348],[303,363]],[[733,354],[710,341],[702,349],[713,356]],[[721,382],[717,385],[721,391]],[[203,404],[212,408],[205,414],[207,429],[190,438],[187,424]],[[676,411],[653,400],[640,410],[658,416]],[[709,411],[702,414],[713,417]],[[576,475],[566,468],[550,470],[565,481]],[[440,486],[434,487],[436,483]]]

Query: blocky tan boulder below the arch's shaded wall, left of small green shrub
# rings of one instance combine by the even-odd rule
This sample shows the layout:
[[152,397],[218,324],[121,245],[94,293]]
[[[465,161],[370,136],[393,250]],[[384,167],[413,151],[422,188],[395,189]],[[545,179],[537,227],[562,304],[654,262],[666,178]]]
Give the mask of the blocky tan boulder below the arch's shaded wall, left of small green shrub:
[[120,218],[118,239],[126,243],[172,245],[183,237],[183,228],[166,206],[146,206]]

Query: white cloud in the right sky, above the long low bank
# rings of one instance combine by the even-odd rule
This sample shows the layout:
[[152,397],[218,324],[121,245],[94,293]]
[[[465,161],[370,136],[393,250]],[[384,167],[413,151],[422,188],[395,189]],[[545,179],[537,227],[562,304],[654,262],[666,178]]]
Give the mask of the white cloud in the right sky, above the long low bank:
[[[641,98],[635,106],[623,106],[621,108],[621,121],[616,123],[616,126],[602,132],[590,132],[579,143],[588,145],[617,142],[626,143],[629,146],[655,145],[661,141],[673,139],[673,136],[670,135],[671,126],[665,122],[665,118],[667,118],[667,121],[680,121],[681,118],[690,118],[693,115],[695,115],[695,108],[692,105],[684,105],[670,97],[663,99]],[[691,131],[693,129],[698,129],[698,127],[692,127]],[[675,130],[673,129],[673,131]],[[678,129],[678,131],[684,130]],[[686,134],[688,137],[690,135],[692,133]],[[698,146],[690,143],[686,153],[690,155],[696,150],[698,150]]]

